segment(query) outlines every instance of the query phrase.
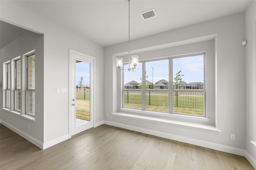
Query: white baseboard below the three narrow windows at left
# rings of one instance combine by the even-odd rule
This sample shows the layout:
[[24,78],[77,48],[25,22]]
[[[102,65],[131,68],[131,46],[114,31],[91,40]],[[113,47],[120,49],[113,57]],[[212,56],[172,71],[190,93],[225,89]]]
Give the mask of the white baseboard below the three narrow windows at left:
[[12,131],[18,133],[20,136],[24,137],[25,139],[27,139],[28,141],[30,141],[31,143],[33,143],[34,145],[36,145],[37,147],[39,147],[40,149],[43,149],[44,144],[37,140],[36,138],[28,135],[27,133],[25,133],[24,131],[21,131],[20,129],[14,127],[13,125],[7,123],[6,121],[0,120],[0,123],[2,123],[3,125],[5,125],[6,127],[8,127],[9,129],[11,129]]

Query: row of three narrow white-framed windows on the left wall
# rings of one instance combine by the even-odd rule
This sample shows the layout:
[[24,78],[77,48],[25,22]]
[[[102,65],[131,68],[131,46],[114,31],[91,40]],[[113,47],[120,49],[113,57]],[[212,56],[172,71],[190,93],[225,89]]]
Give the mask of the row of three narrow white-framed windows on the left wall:
[[34,119],[35,52],[33,50],[22,56],[3,64],[3,109],[20,115],[31,115],[31,119]]

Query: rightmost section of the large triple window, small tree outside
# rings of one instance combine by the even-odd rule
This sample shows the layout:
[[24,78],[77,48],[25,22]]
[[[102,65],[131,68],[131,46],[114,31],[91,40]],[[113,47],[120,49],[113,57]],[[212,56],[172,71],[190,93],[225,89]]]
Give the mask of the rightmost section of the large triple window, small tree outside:
[[173,65],[173,113],[205,115],[205,55],[177,57]]

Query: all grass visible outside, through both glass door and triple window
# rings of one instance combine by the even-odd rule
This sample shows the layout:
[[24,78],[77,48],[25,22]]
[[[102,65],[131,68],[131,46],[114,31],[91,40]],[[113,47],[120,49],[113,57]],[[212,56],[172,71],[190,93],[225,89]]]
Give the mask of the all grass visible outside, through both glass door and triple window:
[[[156,92],[147,92],[146,95],[146,109],[154,111],[166,111],[169,112],[168,107],[168,93],[164,92],[162,95],[156,95]],[[85,100],[84,100],[85,95]],[[174,113],[186,113],[192,115],[204,115],[204,98],[201,96],[196,96],[194,93],[193,96],[182,96],[184,94],[180,93],[178,96],[173,96],[173,112]],[[90,121],[90,92],[76,92],[76,116],[79,119]],[[178,99],[178,107],[177,107]],[[150,101],[150,104],[149,104]],[[141,92],[134,91],[128,92],[128,103],[127,102],[127,93],[124,94],[124,107],[128,108],[142,108],[141,104]],[[133,102],[133,103],[131,103]],[[137,103],[137,104],[136,104]],[[79,107],[78,107],[79,106]],[[198,108],[193,108],[198,107]]]

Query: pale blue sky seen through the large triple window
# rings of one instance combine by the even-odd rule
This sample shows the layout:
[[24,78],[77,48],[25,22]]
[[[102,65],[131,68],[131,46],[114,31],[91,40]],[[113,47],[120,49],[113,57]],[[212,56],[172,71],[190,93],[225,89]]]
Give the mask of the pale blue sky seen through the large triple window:
[[[152,74],[154,70],[154,83],[159,80],[169,81],[169,68],[168,60],[160,61],[151,61],[146,62],[146,80],[152,82]],[[125,65],[124,68],[127,68],[128,65]],[[154,69],[152,69],[152,67]],[[180,57],[173,59],[173,78],[175,74],[181,70],[182,81],[190,82],[204,82],[204,56],[192,56],[192,57]],[[142,63],[139,63],[134,71],[124,70],[124,84],[134,80],[138,83],[141,82],[140,78],[142,77]]]

